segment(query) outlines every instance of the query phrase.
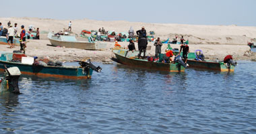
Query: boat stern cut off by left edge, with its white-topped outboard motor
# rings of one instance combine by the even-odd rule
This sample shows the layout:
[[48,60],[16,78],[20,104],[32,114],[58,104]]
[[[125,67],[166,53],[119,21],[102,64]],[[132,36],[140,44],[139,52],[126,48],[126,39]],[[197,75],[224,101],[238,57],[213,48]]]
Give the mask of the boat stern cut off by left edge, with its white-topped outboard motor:
[[0,94],[4,92],[13,92],[20,94],[18,80],[20,78],[20,70],[17,67],[7,68],[5,66],[4,77],[0,78]]

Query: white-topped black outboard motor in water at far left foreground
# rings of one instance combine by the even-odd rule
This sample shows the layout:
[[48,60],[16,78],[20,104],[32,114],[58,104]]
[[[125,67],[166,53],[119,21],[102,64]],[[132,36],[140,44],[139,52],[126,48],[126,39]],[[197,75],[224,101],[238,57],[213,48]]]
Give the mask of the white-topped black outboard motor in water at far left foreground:
[[20,74],[22,74],[18,67],[5,67],[5,80],[8,80],[9,90],[12,90],[15,94],[20,94],[20,88],[18,84],[18,80],[20,78]]

